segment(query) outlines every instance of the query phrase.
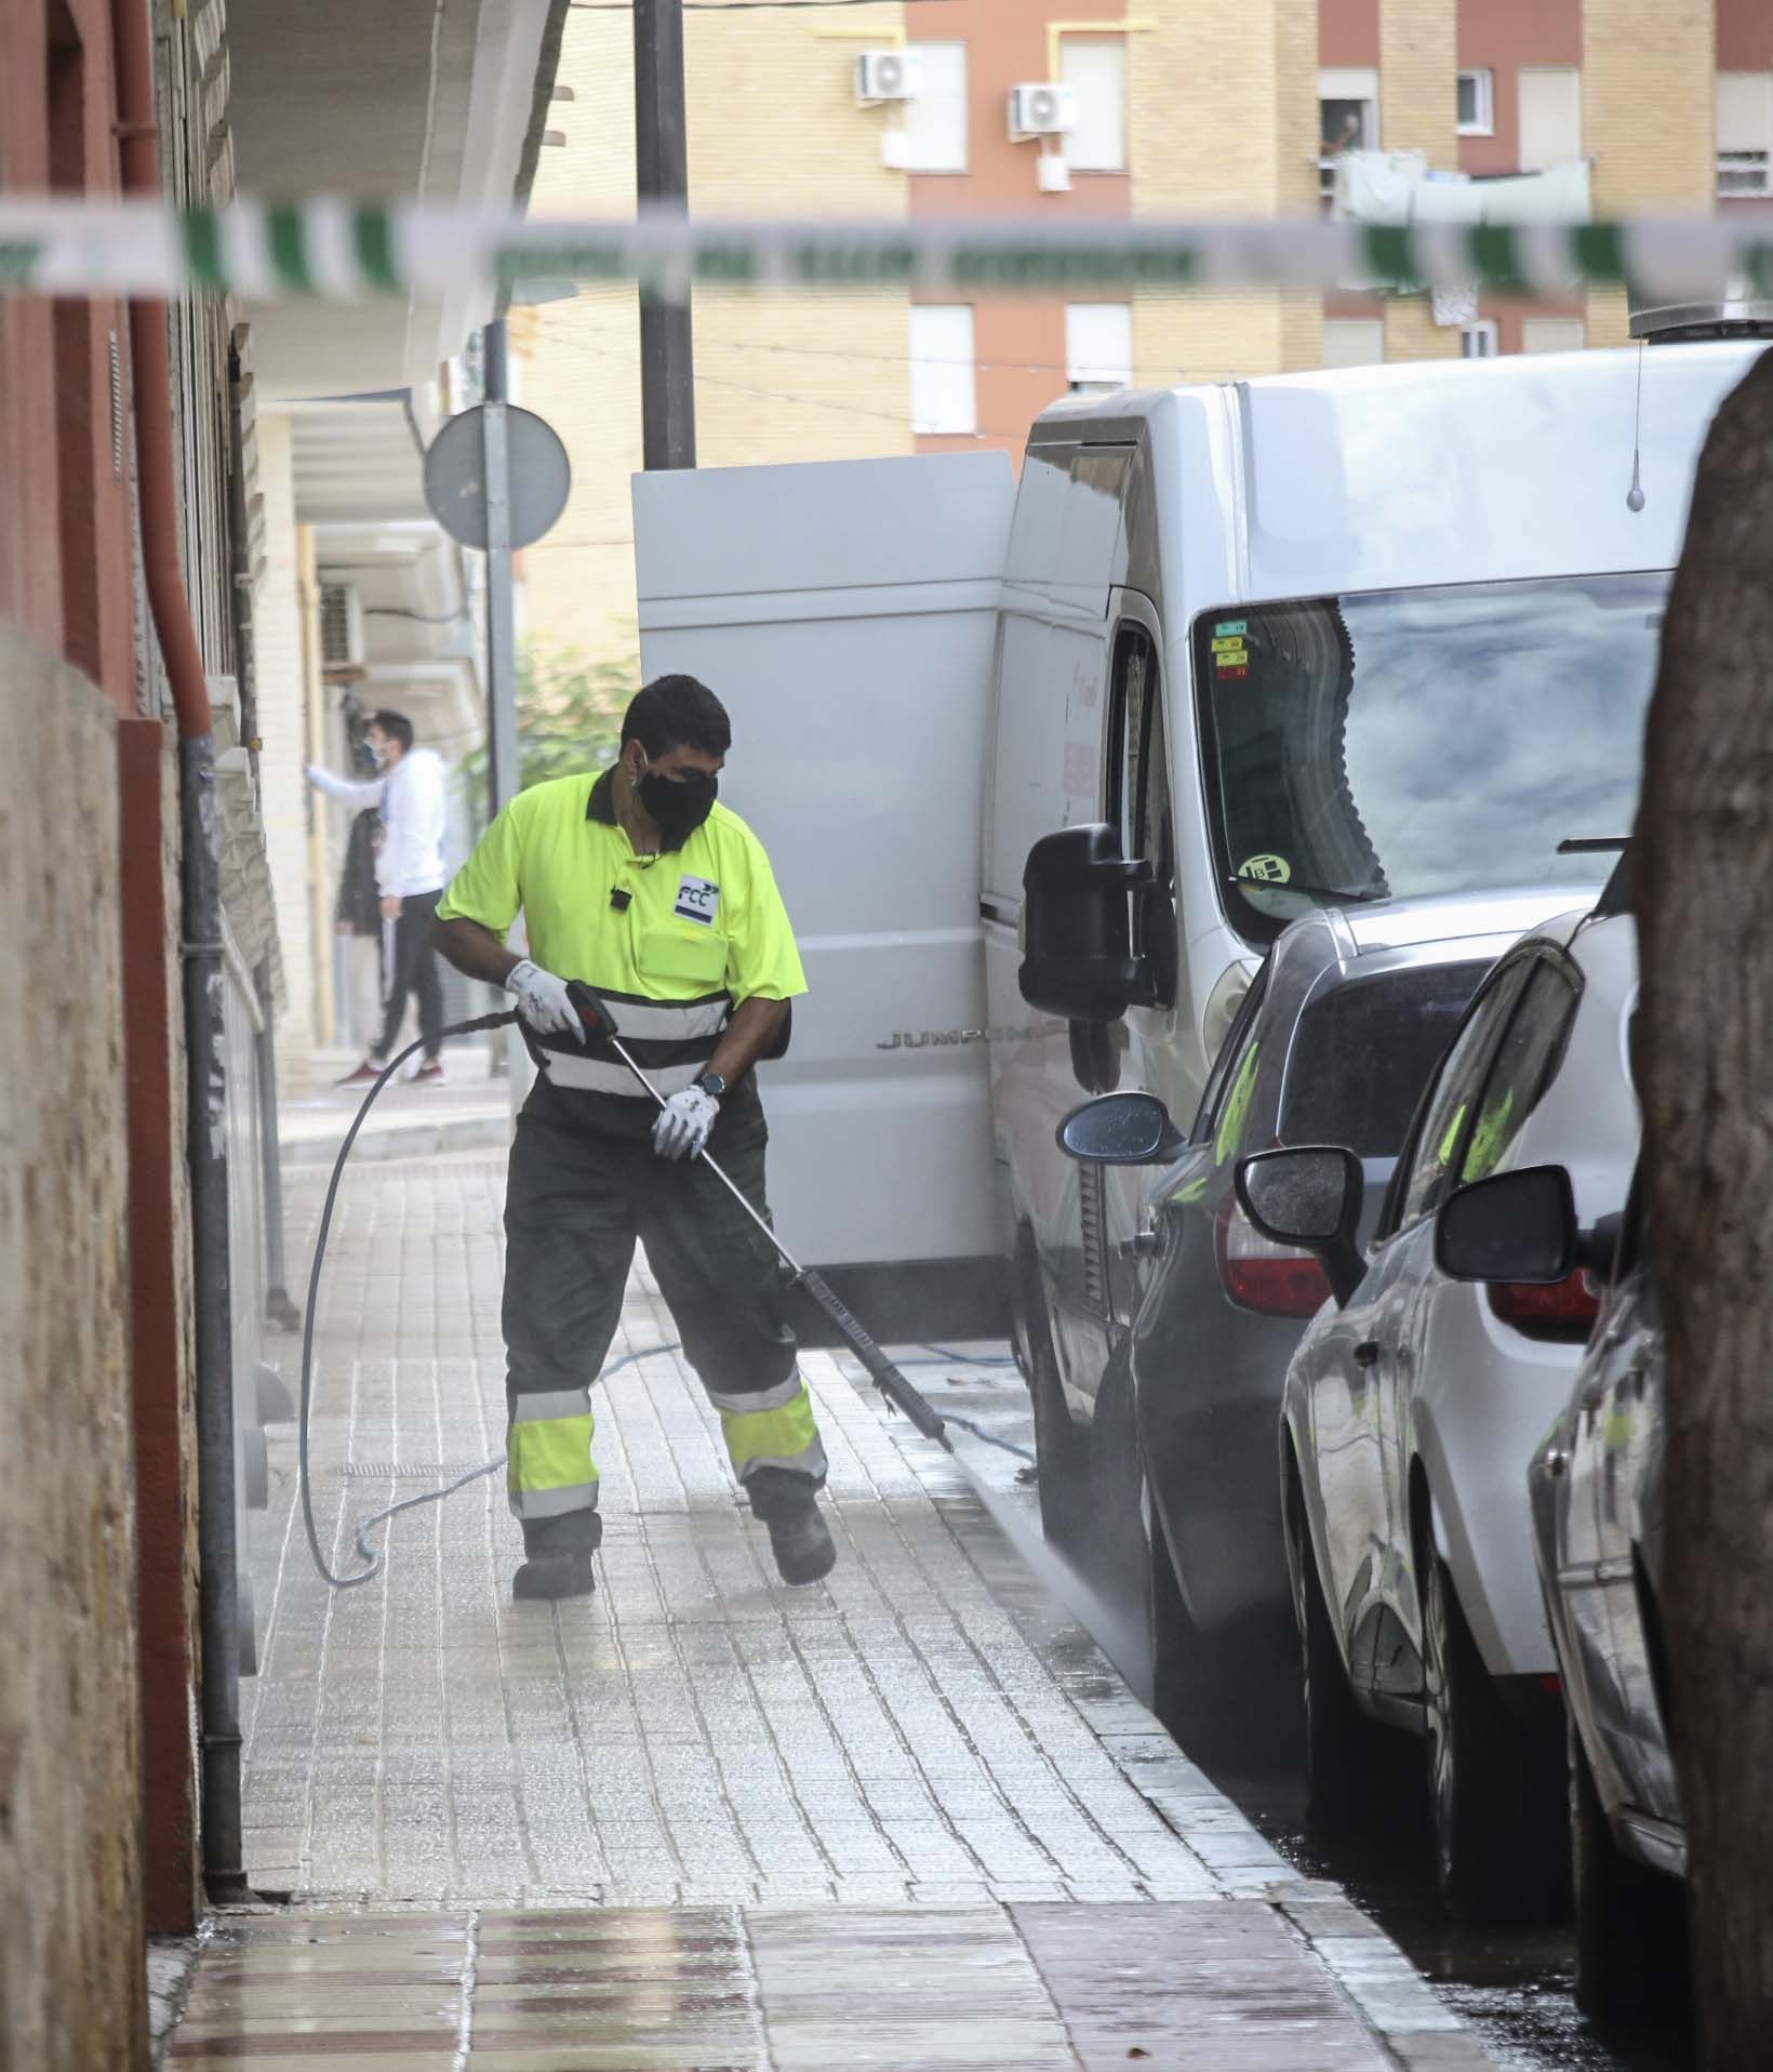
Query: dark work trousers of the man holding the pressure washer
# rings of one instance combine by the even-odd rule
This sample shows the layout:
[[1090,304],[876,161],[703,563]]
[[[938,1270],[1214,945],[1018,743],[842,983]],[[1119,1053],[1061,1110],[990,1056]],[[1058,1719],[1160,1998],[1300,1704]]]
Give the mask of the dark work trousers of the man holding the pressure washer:
[[[636,1239],[646,1245],[646,1264],[677,1324],[684,1355],[723,1413],[744,1409],[744,1399],[768,1407],[800,1386],[775,1249],[700,1158],[671,1160],[652,1150],[657,1113],[644,1096],[592,1094],[536,1080],[518,1115],[505,1185],[512,1440],[520,1436],[520,1415],[551,1415],[557,1444],[584,1463],[553,1479],[584,1484],[590,1477],[588,1488],[551,1490],[536,1504],[520,1490],[520,1481],[536,1477],[518,1475],[514,1465],[512,1508],[522,1519],[530,1558],[590,1552],[603,1539],[584,1390],[603,1370],[621,1322]],[[742,1084],[727,1096],[708,1150],[760,1208],[766,1144],[762,1102],[754,1086]],[[812,1434],[800,1471],[822,1484],[824,1452],[804,1390],[800,1399]],[[539,1434],[536,1444],[549,1442]],[[516,1450],[512,1459],[516,1463]],[[549,1496],[559,1498],[557,1515],[532,1515],[547,1508]]]

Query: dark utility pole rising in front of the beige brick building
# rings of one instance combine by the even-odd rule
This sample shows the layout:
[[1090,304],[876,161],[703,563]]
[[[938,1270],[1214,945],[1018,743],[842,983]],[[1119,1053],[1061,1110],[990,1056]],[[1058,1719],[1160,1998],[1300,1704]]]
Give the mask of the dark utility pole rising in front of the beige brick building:
[[[634,174],[642,213],[690,213],[684,0],[634,0]],[[675,296],[640,290],[640,427],[646,468],[696,466],[688,280]]]

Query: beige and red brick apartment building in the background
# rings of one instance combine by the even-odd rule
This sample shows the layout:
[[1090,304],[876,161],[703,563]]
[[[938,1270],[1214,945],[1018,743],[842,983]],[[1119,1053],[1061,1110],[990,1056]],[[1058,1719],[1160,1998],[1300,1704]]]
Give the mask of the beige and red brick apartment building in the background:
[[[1506,176],[1595,215],[1773,205],[1767,0],[700,0],[686,73],[700,215],[1359,213],[1400,180]],[[574,10],[536,215],[632,211],[632,17]],[[1626,313],[1582,292],[824,290],[698,292],[694,325],[698,460],[731,466],[1019,456],[1067,392],[1611,344]],[[574,462],[524,557],[526,638],[628,659],[634,292],[522,309],[514,342],[518,396]]]

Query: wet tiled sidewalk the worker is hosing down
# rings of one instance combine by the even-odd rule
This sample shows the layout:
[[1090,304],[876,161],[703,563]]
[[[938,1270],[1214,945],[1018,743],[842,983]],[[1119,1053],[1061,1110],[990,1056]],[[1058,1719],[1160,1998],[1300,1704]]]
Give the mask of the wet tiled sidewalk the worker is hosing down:
[[[336,1569],[354,1519],[501,1444],[501,1181],[487,1158],[348,1181],[313,1419]],[[302,1175],[292,1229],[315,1208]],[[327,1591],[273,1440],[246,1840],[255,1888],[298,1910],[220,1925],[176,2060],[1485,2062],[826,1355],[806,1372],[841,1562],[783,1589],[667,1339],[640,1274],[615,1353],[644,1357],[599,1392],[588,1604],[510,1602],[497,1477]]]

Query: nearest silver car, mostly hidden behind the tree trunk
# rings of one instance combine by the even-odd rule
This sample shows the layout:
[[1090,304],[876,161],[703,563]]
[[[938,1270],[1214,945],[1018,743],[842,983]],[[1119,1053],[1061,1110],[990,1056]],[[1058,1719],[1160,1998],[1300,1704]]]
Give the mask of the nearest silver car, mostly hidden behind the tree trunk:
[[[1576,1243],[1553,1191],[1498,1208],[1518,1247]],[[1632,1187],[1601,1320],[1527,1477],[1570,1714],[1576,2002],[1618,2024],[1676,2012],[1690,1985],[1659,1610],[1663,1438],[1663,1332]]]

